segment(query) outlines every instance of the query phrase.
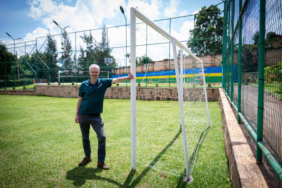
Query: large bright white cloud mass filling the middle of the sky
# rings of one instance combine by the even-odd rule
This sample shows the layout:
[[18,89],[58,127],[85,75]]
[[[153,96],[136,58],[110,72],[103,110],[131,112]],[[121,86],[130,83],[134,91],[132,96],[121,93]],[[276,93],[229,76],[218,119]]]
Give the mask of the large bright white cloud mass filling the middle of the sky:
[[[174,17],[177,12],[177,6],[179,4],[178,0],[171,0],[169,6],[166,7],[167,11],[166,16]],[[143,14],[148,16],[152,20],[158,19],[162,10],[162,1],[161,0],[151,0],[151,1],[141,1],[141,0],[129,0],[128,3],[125,3],[125,0],[78,0],[75,6],[68,6],[63,3],[57,4],[55,1],[51,0],[33,0],[30,1],[30,11],[31,16],[34,19],[41,19],[46,28],[49,28],[52,31],[52,34],[60,34],[61,29],[53,23],[55,20],[62,28],[70,25],[67,28],[68,33],[75,31],[83,31],[95,28],[101,28],[101,24],[105,19],[115,19],[117,14],[120,14],[119,7],[123,6],[125,9],[125,15],[127,17],[127,24],[130,20],[130,8],[137,7],[138,10],[142,11]],[[48,8],[50,6],[50,8]],[[165,13],[165,11],[164,11]],[[181,15],[187,15],[187,11],[183,11]],[[123,19],[123,18],[122,18]],[[165,25],[167,21],[159,22],[159,24]],[[193,28],[193,21],[185,21],[181,24],[179,28],[172,28],[171,34],[177,40],[187,40],[189,38],[189,30]],[[115,25],[115,24],[113,24]],[[113,25],[107,25],[113,26]],[[143,25],[143,26],[142,26]],[[138,24],[140,31],[144,32],[145,24]],[[148,27],[149,28],[149,27]],[[92,30],[91,34],[97,40],[101,40],[102,30]],[[89,35],[90,31],[86,31],[86,34]],[[35,40],[36,37],[46,36],[47,30],[44,28],[36,28],[32,33],[27,33],[24,41]],[[83,32],[71,33],[69,37],[72,41],[72,49],[79,50],[79,44],[85,49],[85,44],[79,36],[82,36]],[[137,45],[146,44],[144,39],[145,35],[140,35],[137,33]],[[61,51],[61,36],[54,37],[57,41],[58,52]],[[110,47],[120,47],[125,46],[125,27],[114,27],[108,29],[108,38],[110,40]],[[38,48],[43,44],[46,38],[38,38]],[[75,46],[76,40],[76,46]],[[148,43],[157,43],[157,42],[167,42],[164,40],[160,34],[157,34],[152,29],[148,31]],[[127,46],[130,46],[130,27],[127,27]],[[43,49],[43,47],[42,47]],[[31,50],[31,49],[30,49]],[[127,48],[127,53],[130,52],[130,47]],[[137,47],[137,56],[142,56],[146,53],[146,46]],[[165,45],[148,45],[147,53],[148,56],[151,56],[153,60],[157,61],[160,59],[168,58],[169,47],[168,44]],[[122,66],[125,65],[124,55],[126,53],[126,48],[113,48],[112,55],[120,62]],[[73,53],[74,54],[74,53]],[[77,53],[77,56],[79,52]],[[59,53],[60,57],[61,54]],[[172,53],[171,53],[172,56]],[[130,65],[129,59],[127,59],[127,65]]]

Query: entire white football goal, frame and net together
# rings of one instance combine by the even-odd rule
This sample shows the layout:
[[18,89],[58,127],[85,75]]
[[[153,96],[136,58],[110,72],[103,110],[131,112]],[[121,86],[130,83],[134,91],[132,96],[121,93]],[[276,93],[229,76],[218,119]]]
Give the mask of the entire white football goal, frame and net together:
[[[136,24],[136,19],[145,23]],[[135,78],[136,56],[146,48],[148,57],[148,66],[137,79],[142,81],[130,83],[132,169],[146,165],[189,182],[199,143],[210,125],[203,62],[133,8],[130,24],[130,71]],[[157,45],[139,47],[139,43],[148,44],[148,38]],[[160,60],[162,65],[150,62]]]

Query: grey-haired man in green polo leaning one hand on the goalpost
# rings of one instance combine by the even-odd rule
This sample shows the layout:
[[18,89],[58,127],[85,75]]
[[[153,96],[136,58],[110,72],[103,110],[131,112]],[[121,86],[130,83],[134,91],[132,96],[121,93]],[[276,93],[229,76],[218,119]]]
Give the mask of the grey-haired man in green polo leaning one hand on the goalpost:
[[81,83],[78,101],[76,107],[75,122],[79,123],[83,149],[85,157],[78,164],[80,166],[91,162],[91,149],[89,140],[90,124],[96,132],[98,138],[98,162],[97,166],[107,170],[109,167],[105,164],[106,156],[106,136],[104,132],[104,122],[100,113],[103,112],[103,101],[105,92],[113,83],[133,79],[133,75],[120,78],[98,78],[100,67],[93,64],[89,67],[90,79]]

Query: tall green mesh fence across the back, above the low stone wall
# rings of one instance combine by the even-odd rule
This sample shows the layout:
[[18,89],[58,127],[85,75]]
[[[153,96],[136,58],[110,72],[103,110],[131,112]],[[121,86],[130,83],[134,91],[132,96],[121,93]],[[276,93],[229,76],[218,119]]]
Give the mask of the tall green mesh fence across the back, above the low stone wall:
[[[167,32],[187,46],[204,62],[206,82],[212,86],[222,83],[222,26],[223,2],[203,7],[197,14],[156,20]],[[126,22],[126,20],[125,20]],[[175,77],[171,43],[156,41],[144,23],[137,22],[137,29],[144,25],[143,41],[137,41],[137,73],[167,71]],[[103,27],[99,29],[38,37],[34,41],[5,46],[5,59],[1,60],[0,88],[11,89],[34,83],[77,85],[90,78],[88,68],[95,63],[100,66],[101,78],[115,78],[130,71],[129,31],[130,25]],[[117,37],[118,36],[118,37]],[[155,46],[158,51],[150,52]],[[147,71],[147,72],[146,72]],[[153,71],[153,72],[154,72]],[[146,80],[147,84],[157,78]],[[137,79],[137,83],[144,78]],[[159,79],[157,79],[159,80]],[[14,83],[14,84],[13,84]],[[129,86],[129,82],[119,86]],[[114,85],[115,86],[115,85]],[[176,86],[176,79],[169,78],[164,87]]]

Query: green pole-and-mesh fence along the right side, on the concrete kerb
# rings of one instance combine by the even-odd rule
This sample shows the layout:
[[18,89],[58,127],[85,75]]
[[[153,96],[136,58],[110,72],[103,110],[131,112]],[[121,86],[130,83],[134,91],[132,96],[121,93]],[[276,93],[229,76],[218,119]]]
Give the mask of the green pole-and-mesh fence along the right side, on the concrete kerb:
[[223,89],[276,187],[282,187],[282,4],[224,1]]

